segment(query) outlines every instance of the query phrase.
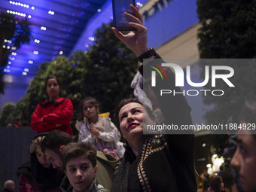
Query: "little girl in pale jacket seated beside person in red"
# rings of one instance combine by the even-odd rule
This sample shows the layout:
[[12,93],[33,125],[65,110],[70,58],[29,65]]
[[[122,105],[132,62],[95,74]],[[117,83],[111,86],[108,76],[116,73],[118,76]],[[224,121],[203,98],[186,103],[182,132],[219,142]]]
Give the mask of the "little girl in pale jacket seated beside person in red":
[[123,143],[120,142],[120,132],[110,118],[99,114],[99,102],[93,97],[87,97],[79,106],[80,117],[84,118],[79,132],[79,142],[90,142],[98,151],[123,157]]

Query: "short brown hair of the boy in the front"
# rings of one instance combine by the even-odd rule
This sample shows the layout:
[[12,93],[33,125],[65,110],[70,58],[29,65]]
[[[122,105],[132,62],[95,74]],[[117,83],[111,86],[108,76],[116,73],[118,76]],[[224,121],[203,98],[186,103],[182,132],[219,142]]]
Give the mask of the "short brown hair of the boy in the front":
[[63,163],[64,169],[69,160],[83,156],[87,158],[92,163],[93,167],[96,166],[96,148],[91,145],[89,142],[72,142],[69,145],[66,145],[66,148],[63,151]]

